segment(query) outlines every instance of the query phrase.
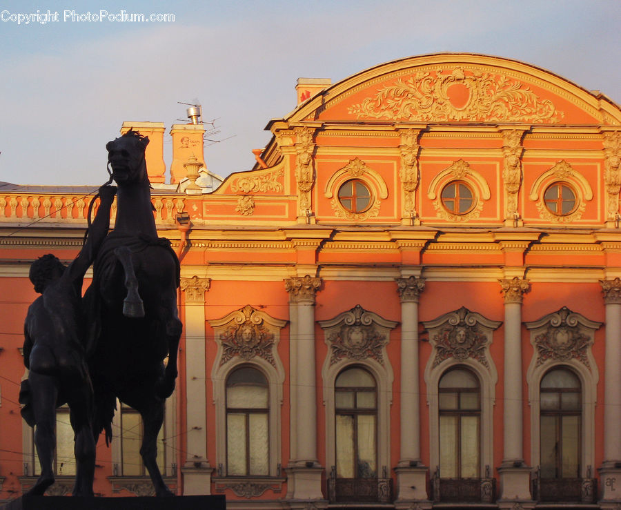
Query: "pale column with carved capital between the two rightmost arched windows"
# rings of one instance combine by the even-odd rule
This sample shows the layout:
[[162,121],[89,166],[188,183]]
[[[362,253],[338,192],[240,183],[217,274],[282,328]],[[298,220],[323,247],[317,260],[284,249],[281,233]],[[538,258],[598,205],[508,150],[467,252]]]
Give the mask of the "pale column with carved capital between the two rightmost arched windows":
[[530,469],[524,464],[522,413],[522,299],[529,291],[526,279],[501,279],[504,295],[504,454],[500,499],[531,500]]

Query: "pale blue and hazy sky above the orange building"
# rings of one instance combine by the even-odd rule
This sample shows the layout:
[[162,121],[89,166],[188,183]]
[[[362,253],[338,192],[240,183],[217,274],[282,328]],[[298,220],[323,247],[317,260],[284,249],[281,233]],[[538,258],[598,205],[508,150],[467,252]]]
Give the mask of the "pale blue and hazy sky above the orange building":
[[621,0],[0,1],[0,182],[102,184],[123,121],[164,122],[168,168],[179,102],[196,100],[218,132],[207,167],[226,177],[252,168],[299,77],[428,53],[524,61],[621,104],[620,26]]

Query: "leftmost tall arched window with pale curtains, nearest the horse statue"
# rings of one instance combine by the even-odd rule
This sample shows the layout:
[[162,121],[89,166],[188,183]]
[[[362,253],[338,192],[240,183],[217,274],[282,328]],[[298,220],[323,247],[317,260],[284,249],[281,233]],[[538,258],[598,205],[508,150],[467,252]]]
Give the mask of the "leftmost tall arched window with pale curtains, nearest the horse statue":
[[251,366],[226,380],[226,474],[268,476],[269,388],[263,373]]

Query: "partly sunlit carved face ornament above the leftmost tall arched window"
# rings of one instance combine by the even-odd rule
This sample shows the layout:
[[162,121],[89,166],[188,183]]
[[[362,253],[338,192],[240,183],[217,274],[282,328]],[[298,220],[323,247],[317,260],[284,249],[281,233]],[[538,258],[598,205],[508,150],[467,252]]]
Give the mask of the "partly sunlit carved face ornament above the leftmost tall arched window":
[[220,366],[234,356],[246,361],[259,356],[272,366],[276,366],[272,354],[274,334],[266,328],[262,317],[255,312],[255,308],[249,304],[244,306],[233,324],[220,334],[222,342]]

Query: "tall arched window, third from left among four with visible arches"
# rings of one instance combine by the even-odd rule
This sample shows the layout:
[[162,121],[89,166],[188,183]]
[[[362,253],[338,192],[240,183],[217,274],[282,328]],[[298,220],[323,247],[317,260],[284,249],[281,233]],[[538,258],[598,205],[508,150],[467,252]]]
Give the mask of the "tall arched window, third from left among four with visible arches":
[[480,477],[481,391],[466,369],[444,373],[438,384],[440,477]]

